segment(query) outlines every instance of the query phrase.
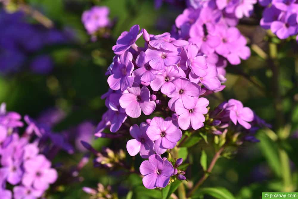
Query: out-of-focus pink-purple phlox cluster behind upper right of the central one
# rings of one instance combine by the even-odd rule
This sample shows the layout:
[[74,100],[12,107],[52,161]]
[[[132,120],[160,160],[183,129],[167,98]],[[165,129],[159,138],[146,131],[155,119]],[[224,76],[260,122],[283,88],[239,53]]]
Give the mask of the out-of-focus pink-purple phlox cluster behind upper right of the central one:
[[250,57],[246,38],[237,27],[238,21],[248,17],[257,0],[189,1],[189,7],[176,18],[172,36],[197,45],[199,53],[225,74],[226,59],[230,64],[240,64]]

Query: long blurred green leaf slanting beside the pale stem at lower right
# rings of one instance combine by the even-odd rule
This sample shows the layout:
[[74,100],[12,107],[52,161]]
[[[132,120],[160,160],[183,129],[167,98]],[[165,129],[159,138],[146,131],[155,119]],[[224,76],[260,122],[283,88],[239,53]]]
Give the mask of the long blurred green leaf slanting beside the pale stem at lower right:
[[281,165],[278,156],[277,144],[273,142],[263,131],[259,131],[257,138],[260,140],[258,146],[265,156],[269,166],[277,176],[281,176]]

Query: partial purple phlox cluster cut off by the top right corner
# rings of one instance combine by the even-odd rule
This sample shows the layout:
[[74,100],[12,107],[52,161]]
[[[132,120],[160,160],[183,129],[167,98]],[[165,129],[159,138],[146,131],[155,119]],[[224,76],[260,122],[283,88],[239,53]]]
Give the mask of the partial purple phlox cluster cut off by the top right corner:
[[[286,39],[298,33],[298,2],[296,0],[260,0],[263,18],[260,25],[270,29],[280,39]],[[296,36],[298,42],[298,36]]]

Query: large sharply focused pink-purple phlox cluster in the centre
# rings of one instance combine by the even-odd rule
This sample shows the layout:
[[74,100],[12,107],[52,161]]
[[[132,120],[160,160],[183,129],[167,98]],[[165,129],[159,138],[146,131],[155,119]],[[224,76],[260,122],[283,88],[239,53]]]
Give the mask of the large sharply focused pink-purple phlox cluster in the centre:
[[[204,12],[203,9],[199,13]],[[210,14],[205,13],[205,16]],[[204,23],[201,25],[204,27]],[[212,27],[214,24],[207,25]],[[235,31],[239,33],[236,28],[228,28],[226,36]],[[141,36],[145,40],[144,47],[136,45]],[[215,38],[209,34],[205,36]],[[194,38],[188,41],[175,39],[170,33],[150,35],[147,30],[140,30],[139,25],[134,25],[129,32],[123,32],[113,46],[116,55],[106,73],[110,89],[102,97],[108,111],[103,114],[95,136],[122,137],[130,127],[133,139],[128,140],[126,149],[131,156],[139,153],[142,158],[149,158],[140,166],[140,172],[145,176],[143,183],[148,189],[165,187],[174,179],[186,179],[185,172],[176,169],[182,159],[171,163],[160,156],[175,148],[183,136],[182,130],[194,132],[206,124],[206,132],[211,126],[213,134],[225,134],[232,123],[243,126],[242,130],[251,129],[249,122],[255,118],[251,109],[234,99],[209,112],[209,101],[205,96],[225,87],[222,85],[225,72],[216,65],[223,59],[215,54],[216,49],[213,49],[212,55],[203,50],[212,51],[212,48],[195,41]],[[233,41],[239,43],[237,39]],[[245,44],[243,48],[247,48]],[[128,117],[140,118],[142,113],[153,115],[153,118],[139,125],[127,120]],[[115,134],[105,133],[107,128]],[[83,144],[98,154],[89,144]],[[107,159],[111,159],[102,155],[99,158],[100,161],[96,162],[105,165]]]

